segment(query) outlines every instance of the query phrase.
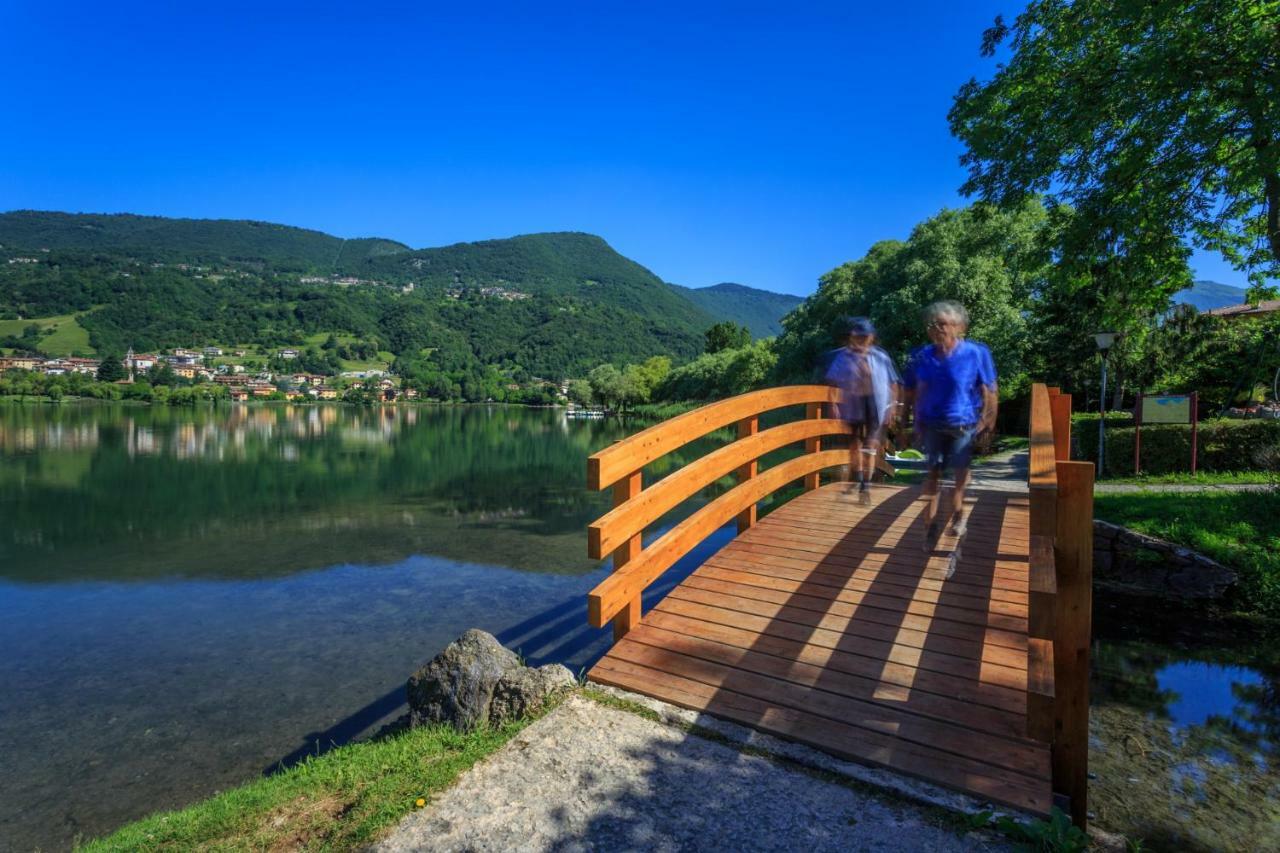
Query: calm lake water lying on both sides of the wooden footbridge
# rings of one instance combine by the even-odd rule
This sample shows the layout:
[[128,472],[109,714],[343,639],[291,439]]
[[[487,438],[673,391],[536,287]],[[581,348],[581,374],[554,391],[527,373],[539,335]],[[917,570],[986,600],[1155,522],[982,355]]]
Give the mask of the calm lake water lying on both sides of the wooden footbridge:
[[[623,434],[506,407],[0,405],[0,850],[68,848],[375,731],[471,626],[589,665],[608,567],[585,528],[608,498],[585,459]],[[1098,824],[1157,849],[1280,839],[1272,647],[1112,616]]]

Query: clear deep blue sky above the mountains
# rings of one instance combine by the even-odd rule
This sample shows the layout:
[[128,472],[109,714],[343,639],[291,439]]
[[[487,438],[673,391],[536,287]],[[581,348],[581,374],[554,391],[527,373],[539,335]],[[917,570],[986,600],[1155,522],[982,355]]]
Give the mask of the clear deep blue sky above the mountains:
[[586,231],[671,282],[809,293],[963,204],[946,111],[1019,6],[10,0],[0,210]]

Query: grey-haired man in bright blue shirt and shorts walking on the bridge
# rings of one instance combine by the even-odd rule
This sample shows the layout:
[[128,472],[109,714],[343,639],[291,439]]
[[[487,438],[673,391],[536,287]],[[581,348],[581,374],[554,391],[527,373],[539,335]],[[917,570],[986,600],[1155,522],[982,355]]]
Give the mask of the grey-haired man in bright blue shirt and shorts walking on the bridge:
[[915,392],[915,429],[928,467],[928,551],[938,535],[938,480],[947,466],[955,469],[956,476],[951,534],[965,534],[964,491],[973,439],[996,425],[996,365],[984,345],[965,339],[969,313],[959,302],[934,302],[924,310],[924,323],[932,343],[911,353],[902,384]]

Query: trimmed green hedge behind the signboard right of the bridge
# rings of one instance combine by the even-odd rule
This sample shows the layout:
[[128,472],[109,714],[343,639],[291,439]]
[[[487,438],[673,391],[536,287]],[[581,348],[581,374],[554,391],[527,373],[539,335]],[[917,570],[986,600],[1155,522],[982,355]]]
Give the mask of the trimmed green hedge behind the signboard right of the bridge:
[[[1107,415],[1105,476],[1133,476],[1133,419]],[[1071,419],[1074,456],[1091,462],[1098,459],[1098,416]],[[1199,424],[1197,466],[1202,471],[1280,471],[1280,420],[1203,420]],[[1189,424],[1160,424],[1142,428],[1142,473],[1171,474],[1192,466]]]

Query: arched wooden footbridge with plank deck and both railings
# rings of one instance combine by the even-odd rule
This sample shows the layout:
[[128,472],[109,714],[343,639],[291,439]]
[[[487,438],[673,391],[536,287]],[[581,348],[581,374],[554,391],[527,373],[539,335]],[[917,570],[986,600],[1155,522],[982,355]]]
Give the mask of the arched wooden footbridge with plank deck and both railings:
[[[1093,467],[1066,461],[1070,396],[1033,389],[1028,491],[972,489],[964,538],[925,544],[919,487],[882,485],[864,506],[823,484],[849,461],[829,448],[849,433],[827,416],[837,393],[742,394],[588,460],[614,505],[589,528],[590,555],[613,556],[589,619],[614,637],[589,678],[1032,813],[1057,799],[1083,826]],[[783,423],[762,430],[776,410]],[[736,441],[645,487],[645,466],[723,428]],[[731,489],[643,540],[730,475]],[[644,589],[733,521],[737,537],[641,615]]]

